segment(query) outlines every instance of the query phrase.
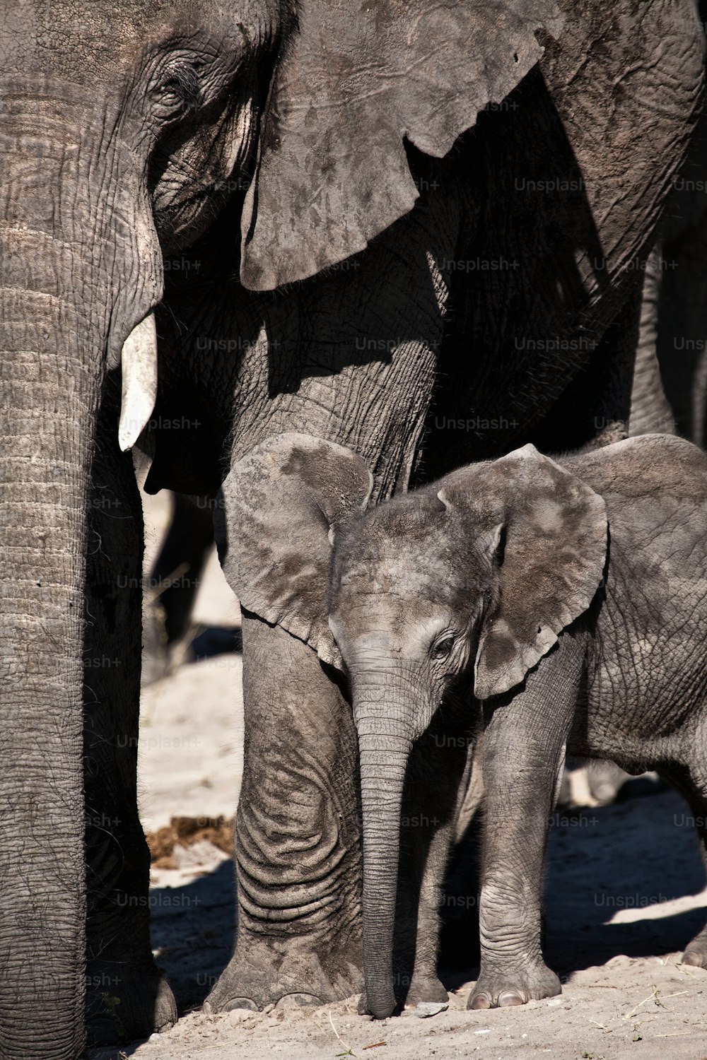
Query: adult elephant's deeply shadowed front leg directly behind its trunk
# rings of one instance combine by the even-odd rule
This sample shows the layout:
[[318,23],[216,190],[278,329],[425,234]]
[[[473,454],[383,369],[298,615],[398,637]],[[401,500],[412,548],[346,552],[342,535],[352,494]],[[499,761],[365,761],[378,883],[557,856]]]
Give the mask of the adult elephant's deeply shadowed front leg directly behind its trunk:
[[131,1041],[176,1020],[149,941],[149,851],[138,818],[142,507],[129,454],[104,403],[86,562],[85,777],[87,1018],[95,1043]]

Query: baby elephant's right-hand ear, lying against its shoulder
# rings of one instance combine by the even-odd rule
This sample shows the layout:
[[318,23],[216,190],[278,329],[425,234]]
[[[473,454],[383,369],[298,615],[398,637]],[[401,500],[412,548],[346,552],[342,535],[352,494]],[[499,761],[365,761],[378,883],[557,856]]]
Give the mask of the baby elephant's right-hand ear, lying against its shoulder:
[[533,445],[449,475],[439,493],[470,533],[502,526],[497,603],[476,655],[478,699],[519,685],[558,635],[591,604],[606,562],[606,506],[585,482]]

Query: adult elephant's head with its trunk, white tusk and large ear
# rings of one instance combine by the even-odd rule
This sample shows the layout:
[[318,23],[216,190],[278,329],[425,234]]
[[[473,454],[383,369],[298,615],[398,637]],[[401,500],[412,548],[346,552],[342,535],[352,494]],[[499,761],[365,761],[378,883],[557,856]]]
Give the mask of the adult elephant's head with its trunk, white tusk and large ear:
[[[6,1055],[82,1049],[87,484],[106,373],[122,364],[123,449],[151,417],[163,255],[193,243],[230,196],[243,200],[246,286],[273,288],[360,250],[418,195],[406,138],[444,155],[530,70],[542,53],[535,30],[559,24],[553,0],[518,12],[501,0],[28,0],[6,10]],[[57,866],[51,883],[48,864]]]

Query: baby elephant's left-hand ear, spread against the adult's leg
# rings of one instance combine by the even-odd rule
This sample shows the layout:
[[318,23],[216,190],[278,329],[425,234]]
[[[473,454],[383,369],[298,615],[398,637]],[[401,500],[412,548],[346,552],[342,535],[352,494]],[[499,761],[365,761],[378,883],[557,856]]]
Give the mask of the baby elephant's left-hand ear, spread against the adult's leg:
[[355,453],[298,434],[257,446],[222,488],[228,548],[219,559],[238,600],[339,668],[326,614],[331,534],[366,508],[372,488]]

